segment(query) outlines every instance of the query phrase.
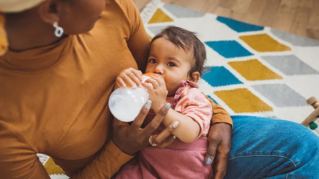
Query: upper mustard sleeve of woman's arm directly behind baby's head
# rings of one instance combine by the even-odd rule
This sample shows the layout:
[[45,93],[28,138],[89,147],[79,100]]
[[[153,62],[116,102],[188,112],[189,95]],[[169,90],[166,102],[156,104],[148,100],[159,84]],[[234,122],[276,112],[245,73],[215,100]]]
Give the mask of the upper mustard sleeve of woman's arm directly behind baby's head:
[[148,47],[150,45],[151,40],[145,31],[139,10],[137,9],[132,0],[127,0],[127,2],[127,17],[131,25],[131,35],[127,41],[127,46],[133,54],[134,59],[138,64],[139,70],[144,72],[147,63]]

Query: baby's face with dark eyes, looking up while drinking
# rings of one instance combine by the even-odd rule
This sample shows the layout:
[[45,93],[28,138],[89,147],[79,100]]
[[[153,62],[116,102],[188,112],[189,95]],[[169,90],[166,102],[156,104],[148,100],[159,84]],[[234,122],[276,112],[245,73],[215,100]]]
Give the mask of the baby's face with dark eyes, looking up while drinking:
[[158,38],[151,45],[146,72],[161,75],[166,83],[168,96],[174,96],[182,80],[190,80],[191,53],[185,52],[166,38]]

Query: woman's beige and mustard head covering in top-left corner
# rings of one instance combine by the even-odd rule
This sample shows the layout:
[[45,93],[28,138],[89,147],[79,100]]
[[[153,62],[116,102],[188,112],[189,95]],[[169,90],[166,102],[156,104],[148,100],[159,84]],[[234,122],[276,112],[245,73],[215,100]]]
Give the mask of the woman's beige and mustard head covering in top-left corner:
[[43,1],[44,0],[0,0],[0,56],[8,50],[4,13],[22,12],[37,6]]

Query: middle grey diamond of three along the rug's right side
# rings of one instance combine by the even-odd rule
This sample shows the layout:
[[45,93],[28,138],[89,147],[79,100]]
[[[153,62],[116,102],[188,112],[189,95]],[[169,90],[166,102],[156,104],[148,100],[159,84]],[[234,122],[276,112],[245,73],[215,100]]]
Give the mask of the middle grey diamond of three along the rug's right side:
[[261,56],[261,58],[286,75],[319,74],[295,55]]

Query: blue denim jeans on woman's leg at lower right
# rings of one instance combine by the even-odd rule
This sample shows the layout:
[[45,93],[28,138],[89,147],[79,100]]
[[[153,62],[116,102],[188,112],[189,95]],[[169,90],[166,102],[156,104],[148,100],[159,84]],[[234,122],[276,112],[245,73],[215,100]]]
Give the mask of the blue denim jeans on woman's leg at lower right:
[[319,179],[319,137],[289,121],[232,116],[225,179]]

